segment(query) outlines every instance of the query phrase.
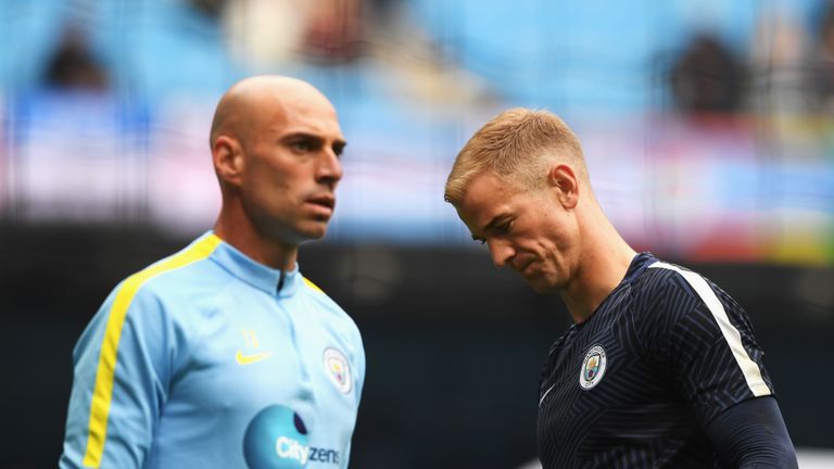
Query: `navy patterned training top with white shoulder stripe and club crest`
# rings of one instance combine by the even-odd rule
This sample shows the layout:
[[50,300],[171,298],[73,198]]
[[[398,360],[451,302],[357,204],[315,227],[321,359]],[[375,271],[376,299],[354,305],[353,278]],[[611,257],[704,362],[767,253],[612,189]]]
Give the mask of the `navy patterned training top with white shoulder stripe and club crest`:
[[639,254],[594,314],[551,347],[539,392],[542,465],[721,467],[705,429],[736,404],[773,394],[761,357],[732,297]]

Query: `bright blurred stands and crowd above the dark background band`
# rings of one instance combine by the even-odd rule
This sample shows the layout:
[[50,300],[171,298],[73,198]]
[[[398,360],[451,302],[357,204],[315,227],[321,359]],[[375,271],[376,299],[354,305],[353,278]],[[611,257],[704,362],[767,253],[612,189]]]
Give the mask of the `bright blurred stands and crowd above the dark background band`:
[[0,0],[0,219],[205,226],[211,110],[278,73],[349,136],[334,239],[466,241],[445,172],[522,105],[579,130],[635,244],[834,259],[834,1]]

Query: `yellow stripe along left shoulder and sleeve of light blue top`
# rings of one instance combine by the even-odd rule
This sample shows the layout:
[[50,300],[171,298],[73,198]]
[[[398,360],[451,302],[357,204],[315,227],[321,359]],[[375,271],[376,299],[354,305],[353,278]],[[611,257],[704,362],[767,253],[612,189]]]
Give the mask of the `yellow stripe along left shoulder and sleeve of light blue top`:
[[108,434],[110,403],[113,397],[113,378],[116,371],[118,340],[122,337],[125,315],[130,307],[136,292],[139,291],[139,288],[144,282],[160,274],[178,269],[208,257],[219,243],[219,238],[215,234],[208,234],[187,251],[128,277],[116,293],[116,299],[110,308],[108,326],[104,329],[104,339],[101,343],[99,366],[96,370],[96,388],[92,391],[89,434],[87,436],[87,451],[84,455],[84,466],[99,467],[101,465],[101,458],[104,454],[104,441]]

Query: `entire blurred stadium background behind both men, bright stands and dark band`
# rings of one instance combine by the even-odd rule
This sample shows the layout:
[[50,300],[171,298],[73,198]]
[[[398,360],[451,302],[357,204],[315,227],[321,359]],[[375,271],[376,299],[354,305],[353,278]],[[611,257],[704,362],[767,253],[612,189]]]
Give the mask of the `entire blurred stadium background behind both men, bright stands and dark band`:
[[213,107],[260,73],[350,145],[305,274],[363,330],[352,467],[517,468],[558,297],[443,203],[471,132],[564,116],[615,225],[749,312],[801,467],[834,467],[834,7],[823,0],[0,0],[0,467],[54,466],[72,347],[208,229]]

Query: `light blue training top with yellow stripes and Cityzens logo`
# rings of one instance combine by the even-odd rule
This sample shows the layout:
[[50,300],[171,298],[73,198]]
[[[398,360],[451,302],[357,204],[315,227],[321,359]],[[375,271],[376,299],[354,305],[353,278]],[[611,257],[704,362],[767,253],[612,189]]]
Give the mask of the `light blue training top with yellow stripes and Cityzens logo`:
[[73,353],[60,466],[346,468],[359,331],[280,276],[210,231],[119,283]]

